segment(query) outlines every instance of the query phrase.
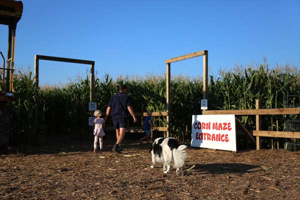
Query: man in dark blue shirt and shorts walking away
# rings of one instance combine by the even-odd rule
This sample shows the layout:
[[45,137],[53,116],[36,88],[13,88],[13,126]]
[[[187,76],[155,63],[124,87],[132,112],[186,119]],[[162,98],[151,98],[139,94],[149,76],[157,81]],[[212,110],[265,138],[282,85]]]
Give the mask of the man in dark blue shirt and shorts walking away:
[[131,107],[131,99],[130,96],[126,94],[126,91],[126,85],[120,84],[119,92],[111,96],[108,102],[106,116],[104,117],[104,120],[106,121],[109,113],[111,113],[112,123],[116,133],[116,143],[112,148],[113,152],[120,152],[121,150],[120,144],[126,132],[128,112],[133,117],[133,121],[136,122],[136,117]]

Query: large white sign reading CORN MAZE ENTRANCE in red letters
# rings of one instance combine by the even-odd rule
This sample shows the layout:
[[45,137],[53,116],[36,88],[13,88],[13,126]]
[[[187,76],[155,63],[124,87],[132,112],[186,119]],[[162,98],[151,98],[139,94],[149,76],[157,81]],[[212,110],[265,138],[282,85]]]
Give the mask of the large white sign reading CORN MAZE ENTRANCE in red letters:
[[234,114],[192,115],[191,146],[236,151]]

